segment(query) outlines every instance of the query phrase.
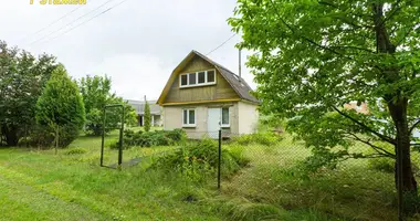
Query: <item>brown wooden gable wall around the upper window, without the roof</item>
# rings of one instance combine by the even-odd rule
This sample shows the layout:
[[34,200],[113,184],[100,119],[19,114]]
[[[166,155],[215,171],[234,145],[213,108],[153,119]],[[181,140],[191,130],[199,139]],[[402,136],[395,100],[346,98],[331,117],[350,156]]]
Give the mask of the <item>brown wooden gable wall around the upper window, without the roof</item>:
[[[193,87],[180,87],[180,75],[187,73],[195,73],[199,71],[216,71],[216,84],[203,85]],[[239,101],[240,96],[228,83],[228,81],[220,74],[218,69],[203,60],[202,57],[195,55],[182,67],[172,73],[171,84],[161,105],[171,104],[188,104],[188,103],[206,103],[206,102],[224,102],[224,101]]]

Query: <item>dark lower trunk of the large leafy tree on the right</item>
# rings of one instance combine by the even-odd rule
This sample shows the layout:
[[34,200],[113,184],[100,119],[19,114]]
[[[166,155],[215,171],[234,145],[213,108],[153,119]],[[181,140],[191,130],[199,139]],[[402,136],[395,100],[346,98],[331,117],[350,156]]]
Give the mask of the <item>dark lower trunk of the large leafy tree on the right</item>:
[[[401,167],[402,167],[402,191],[405,193],[417,194],[417,181],[412,172],[411,155],[410,155],[410,134],[407,122],[407,99],[400,98],[397,103],[389,102],[388,108],[391,114],[392,120],[397,128],[396,137],[396,152],[401,154]],[[396,164],[396,183],[398,183],[397,171],[400,165]],[[397,186],[398,187],[398,186]]]

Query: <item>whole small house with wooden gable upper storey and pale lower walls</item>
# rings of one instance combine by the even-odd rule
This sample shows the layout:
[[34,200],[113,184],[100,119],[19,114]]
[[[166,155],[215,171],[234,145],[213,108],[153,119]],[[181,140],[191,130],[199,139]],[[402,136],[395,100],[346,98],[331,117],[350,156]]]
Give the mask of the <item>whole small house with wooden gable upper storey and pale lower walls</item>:
[[255,130],[260,102],[246,82],[197,51],[174,70],[157,103],[164,128],[183,128],[191,138]]

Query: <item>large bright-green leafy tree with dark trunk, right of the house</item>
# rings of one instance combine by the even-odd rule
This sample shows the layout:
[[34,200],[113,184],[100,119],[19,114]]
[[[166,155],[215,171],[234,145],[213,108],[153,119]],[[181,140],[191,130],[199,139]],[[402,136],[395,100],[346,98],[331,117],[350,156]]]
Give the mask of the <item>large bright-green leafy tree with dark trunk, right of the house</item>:
[[[317,166],[402,156],[402,189],[417,193],[412,131],[420,125],[419,1],[239,0],[229,23],[249,57],[262,110],[313,148]],[[369,114],[343,108],[357,101]],[[351,152],[363,143],[374,154]],[[392,145],[389,151],[380,145]],[[396,171],[397,171],[396,169]]]

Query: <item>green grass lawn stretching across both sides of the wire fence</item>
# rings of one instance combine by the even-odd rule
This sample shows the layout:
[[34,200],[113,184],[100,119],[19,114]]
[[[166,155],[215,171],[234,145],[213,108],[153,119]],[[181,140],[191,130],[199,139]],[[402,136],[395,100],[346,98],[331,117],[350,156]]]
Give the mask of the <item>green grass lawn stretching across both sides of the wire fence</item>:
[[[221,192],[216,177],[197,183],[148,169],[149,156],[177,147],[125,150],[124,161],[144,160],[122,170],[98,167],[99,147],[99,137],[82,136],[59,155],[0,149],[0,220],[397,220],[392,173],[358,160],[304,176],[296,165],[311,152],[290,136],[274,146],[223,143],[250,164],[223,177]],[[116,161],[106,148],[105,164]]]

